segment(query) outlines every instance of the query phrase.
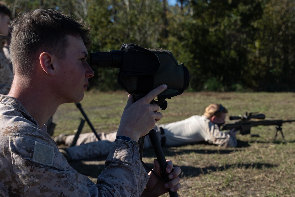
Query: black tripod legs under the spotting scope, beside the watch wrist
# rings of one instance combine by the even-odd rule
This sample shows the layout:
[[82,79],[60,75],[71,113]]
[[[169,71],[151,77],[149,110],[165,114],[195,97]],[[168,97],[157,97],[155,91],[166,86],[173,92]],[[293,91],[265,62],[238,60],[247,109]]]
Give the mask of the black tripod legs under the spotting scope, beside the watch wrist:
[[[161,169],[161,175],[162,175],[163,178],[160,177],[157,173],[155,173],[147,164],[145,164],[145,162],[142,161],[143,144],[144,144],[145,136],[141,137],[139,139],[139,141],[138,141],[139,142],[138,144],[139,144],[139,153],[140,153],[141,162],[145,167],[147,167],[150,171],[152,171],[161,181],[168,182],[169,178],[168,178],[168,173],[166,172],[167,162],[166,162],[166,159],[165,159],[163,149],[162,149],[161,144],[160,144],[158,134],[155,131],[155,129],[152,129],[148,133],[148,136],[150,138],[150,142],[153,145],[153,149],[155,151],[157,160],[159,162],[160,169]],[[169,195],[171,197],[178,197],[178,193],[176,191],[168,190],[168,192],[169,192]]]

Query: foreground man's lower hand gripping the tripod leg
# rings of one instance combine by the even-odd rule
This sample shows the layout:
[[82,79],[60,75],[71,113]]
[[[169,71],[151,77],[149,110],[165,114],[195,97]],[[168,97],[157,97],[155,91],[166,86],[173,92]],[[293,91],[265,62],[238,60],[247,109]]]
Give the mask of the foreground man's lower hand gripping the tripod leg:
[[[149,197],[154,197],[154,196],[161,196],[164,193],[167,193],[168,190],[170,191],[178,191],[180,189],[180,178],[178,175],[181,172],[180,167],[173,167],[172,161],[171,160],[166,160],[167,161],[167,167],[166,167],[166,172],[169,174],[168,178],[170,179],[169,182],[164,183],[162,182],[156,175],[154,175],[152,172],[149,173],[150,178],[148,180],[147,185],[145,186],[145,190],[143,191],[141,197],[144,196],[149,196]],[[160,175],[160,165],[158,163],[158,160],[154,160],[154,168],[153,170]]]

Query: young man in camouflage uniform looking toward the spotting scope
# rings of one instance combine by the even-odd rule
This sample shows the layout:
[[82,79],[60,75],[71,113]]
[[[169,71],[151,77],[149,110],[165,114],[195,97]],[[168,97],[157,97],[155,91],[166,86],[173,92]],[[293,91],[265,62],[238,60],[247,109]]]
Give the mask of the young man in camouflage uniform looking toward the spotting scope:
[[[97,183],[76,172],[44,130],[58,106],[79,102],[94,71],[86,62],[89,30],[52,10],[19,15],[10,44],[14,80],[0,95],[0,196],[160,196],[180,188],[181,170],[168,160],[171,180],[148,175],[136,142],[117,140]],[[167,88],[161,85],[134,102],[129,96],[118,136],[133,141],[162,118],[150,104]],[[155,161],[155,172],[160,173]],[[157,189],[156,189],[157,188]]]

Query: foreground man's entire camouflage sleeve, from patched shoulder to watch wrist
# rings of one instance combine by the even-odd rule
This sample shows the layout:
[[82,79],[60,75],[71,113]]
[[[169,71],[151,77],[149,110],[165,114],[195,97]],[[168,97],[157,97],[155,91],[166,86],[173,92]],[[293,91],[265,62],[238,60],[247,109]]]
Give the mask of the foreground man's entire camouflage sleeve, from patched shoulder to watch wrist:
[[76,172],[53,140],[11,133],[9,147],[12,161],[1,167],[13,169],[2,174],[14,188],[8,196],[140,196],[148,181],[138,146],[124,141],[115,144],[97,184]]

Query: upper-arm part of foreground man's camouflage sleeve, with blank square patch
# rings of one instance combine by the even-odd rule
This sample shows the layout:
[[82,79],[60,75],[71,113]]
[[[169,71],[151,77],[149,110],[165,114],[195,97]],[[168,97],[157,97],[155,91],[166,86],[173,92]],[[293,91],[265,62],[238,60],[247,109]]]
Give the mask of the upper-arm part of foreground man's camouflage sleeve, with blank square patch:
[[4,191],[8,196],[98,196],[96,184],[68,164],[54,141],[12,133],[9,147],[13,173],[4,177],[13,190]]

